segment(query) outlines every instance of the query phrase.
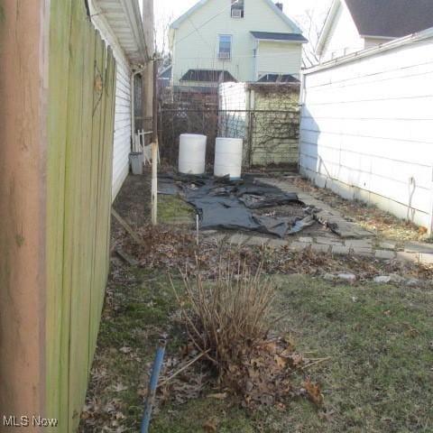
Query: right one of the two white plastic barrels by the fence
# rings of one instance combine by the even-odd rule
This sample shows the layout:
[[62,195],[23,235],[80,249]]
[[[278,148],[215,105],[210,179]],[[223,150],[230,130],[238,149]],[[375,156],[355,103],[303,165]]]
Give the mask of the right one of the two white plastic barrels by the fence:
[[242,138],[217,138],[214,176],[240,179],[242,173]]

